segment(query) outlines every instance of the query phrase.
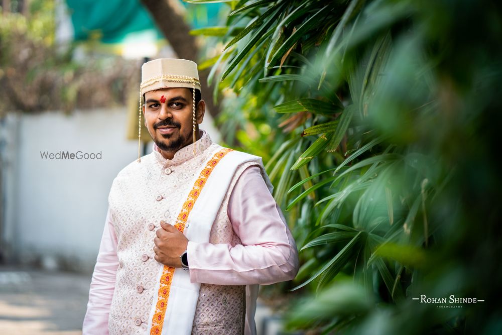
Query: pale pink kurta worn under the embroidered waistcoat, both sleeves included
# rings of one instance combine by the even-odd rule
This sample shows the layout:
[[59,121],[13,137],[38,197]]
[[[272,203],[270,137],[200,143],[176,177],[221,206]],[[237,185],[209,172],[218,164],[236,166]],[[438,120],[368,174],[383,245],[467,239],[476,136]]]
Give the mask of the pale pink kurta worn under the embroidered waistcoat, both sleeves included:
[[[210,147],[212,141],[203,131],[203,136],[197,144],[198,148],[205,150]],[[159,163],[164,160],[164,163],[172,163],[176,166],[177,160],[181,162],[189,157],[187,154],[191,153],[192,148],[193,145],[189,145],[180,149],[172,162],[166,162],[156,145],[154,145],[154,152],[150,155],[155,155]],[[158,171],[152,171],[152,173],[156,174]],[[229,196],[224,201],[226,210],[224,208],[221,210],[222,215],[224,214],[229,219],[231,224],[229,229],[233,238],[229,238],[231,242],[221,243],[223,240],[228,240],[221,238],[222,235],[228,235],[228,233],[218,232],[223,228],[217,227],[217,222],[215,222],[208,243],[189,241],[187,250],[190,280],[212,284],[201,286],[200,294],[214,291],[211,287],[217,288],[218,286],[213,285],[247,285],[244,332],[253,334],[256,333],[254,313],[258,294],[257,284],[266,285],[293,279],[298,271],[298,252],[281,209],[262,177],[260,166],[248,164],[240,167],[240,172],[235,177],[232,186]],[[108,334],[110,307],[118,282],[117,269],[122,266],[117,256],[120,235],[117,238],[113,216],[108,208],[99,254],[92,275],[83,334]],[[148,248],[151,247],[148,246]],[[195,318],[198,318],[197,314]],[[148,320],[145,321],[148,322]],[[131,329],[127,333],[142,332],[140,329]]]

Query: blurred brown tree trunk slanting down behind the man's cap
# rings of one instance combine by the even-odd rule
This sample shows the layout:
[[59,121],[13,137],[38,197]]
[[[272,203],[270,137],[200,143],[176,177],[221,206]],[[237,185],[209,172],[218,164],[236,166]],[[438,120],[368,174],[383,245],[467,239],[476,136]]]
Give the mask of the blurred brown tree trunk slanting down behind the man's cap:
[[[179,58],[197,62],[198,47],[195,36],[190,35],[190,26],[185,22],[184,8],[178,0],[141,0],[150,12],[159,30],[164,34]],[[202,98],[213,118],[218,114],[212,98],[212,87],[207,85],[208,71],[199,72]]]

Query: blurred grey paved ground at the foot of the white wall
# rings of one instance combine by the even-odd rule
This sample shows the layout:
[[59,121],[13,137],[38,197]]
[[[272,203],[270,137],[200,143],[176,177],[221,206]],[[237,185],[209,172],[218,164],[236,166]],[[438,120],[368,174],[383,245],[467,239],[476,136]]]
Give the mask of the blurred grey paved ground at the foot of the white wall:
[[[0,267],[1,335],[79,335],[90,275]],[[280,334],[281,322],[258,302],[259,335]]]

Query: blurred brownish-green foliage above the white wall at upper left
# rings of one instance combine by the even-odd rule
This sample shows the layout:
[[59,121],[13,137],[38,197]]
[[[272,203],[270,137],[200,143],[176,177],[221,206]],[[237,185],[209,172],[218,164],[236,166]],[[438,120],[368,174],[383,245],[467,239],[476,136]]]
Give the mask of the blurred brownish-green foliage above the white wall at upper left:
[[30,1],[21,13],[0,11],[0,118],[122,105],[137,90],[135,62],[94,51],[96,41],[57,41],[57,20],[54,0]]

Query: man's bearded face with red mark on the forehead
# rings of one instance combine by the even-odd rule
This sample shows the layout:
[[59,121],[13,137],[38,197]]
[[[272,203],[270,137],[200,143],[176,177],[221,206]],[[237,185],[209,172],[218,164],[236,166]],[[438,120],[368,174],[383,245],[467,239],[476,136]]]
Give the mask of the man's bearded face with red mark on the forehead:
[[[202,103],[203,104],[203,103]],[[200,109],[201,103],[199,102]],[[197,111],[197,124],[202,121]],[[188,88],[162,88],[145,93],[145,126],[160,150],[172,153],[193,142],[192,92]],[[203,114],[203,112],[202,112]],[[197,127],[198,129],[198,127]]]

